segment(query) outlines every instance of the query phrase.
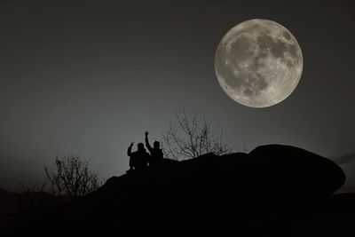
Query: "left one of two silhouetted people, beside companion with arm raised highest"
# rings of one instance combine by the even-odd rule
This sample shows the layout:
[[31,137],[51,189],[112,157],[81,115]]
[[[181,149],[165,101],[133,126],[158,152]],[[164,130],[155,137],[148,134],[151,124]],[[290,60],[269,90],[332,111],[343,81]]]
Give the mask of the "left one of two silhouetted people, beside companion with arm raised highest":
[[130,170],[143,170],[148,166],[149,154],[146,152],[146,148],[143,143],[138,143],[138,150],[132,152],[133,142],[128,147],[127,154],[130,156]]

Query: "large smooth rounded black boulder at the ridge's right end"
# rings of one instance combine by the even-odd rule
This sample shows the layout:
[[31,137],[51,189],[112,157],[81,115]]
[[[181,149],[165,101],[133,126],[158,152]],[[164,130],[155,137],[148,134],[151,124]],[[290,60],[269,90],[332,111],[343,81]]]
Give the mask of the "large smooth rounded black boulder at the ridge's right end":
[[333,161],[295,146],[258,146],[248,154],[260,186],[272,194],[319,198],[334,194],[345,182]]

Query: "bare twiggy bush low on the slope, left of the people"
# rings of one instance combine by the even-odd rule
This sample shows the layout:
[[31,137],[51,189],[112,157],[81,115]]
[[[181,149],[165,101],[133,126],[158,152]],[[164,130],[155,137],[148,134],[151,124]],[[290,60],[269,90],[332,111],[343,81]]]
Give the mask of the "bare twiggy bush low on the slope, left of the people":
[[100,186],[99,175],[89,169],[89,162],[78,155],[56,156],[56,169],[44,166],[50,181],[50,192],[59,197],[65,192],[71,200],[90,194]]

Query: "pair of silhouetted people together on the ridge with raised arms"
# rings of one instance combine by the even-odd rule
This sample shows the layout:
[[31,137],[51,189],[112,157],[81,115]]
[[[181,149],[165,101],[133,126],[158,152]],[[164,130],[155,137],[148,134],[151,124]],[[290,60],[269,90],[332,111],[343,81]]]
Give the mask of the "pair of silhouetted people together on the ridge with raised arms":
[[130,143],[130,146],[128,147],[127,154],[130,156],[130,170],[144,170],[148,166],[154,166],[157,163],[161,162],[163,159],[163,154],[162,154],[162,149],[160,147],[160,142],[159,141],[154,141],[153,147],[150,146],[149,144],[149,139],[148,139],[149,131],[145,131],[145,141],[146,141],[146,147],[148,148],[148,151],[150,154],[146,152],[146,148],[143,143],[138,143],[137,151],[132,152],[132,146],[133,142]]

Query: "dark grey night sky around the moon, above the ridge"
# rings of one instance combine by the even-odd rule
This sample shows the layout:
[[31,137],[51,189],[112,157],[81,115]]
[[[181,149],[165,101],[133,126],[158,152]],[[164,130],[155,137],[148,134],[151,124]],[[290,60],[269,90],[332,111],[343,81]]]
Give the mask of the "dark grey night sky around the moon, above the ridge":
[[[355,153],[354,4],[206,2],[0,2],[0,186],[40,180],[57,154],[122,175],[130,142],[144,130],[161,139],[183,110],[206,115],[231,146]],[[221,38],[255,18],[288,28],[304,55],[296,90],[273,107],[234,102],[214,72]]]

